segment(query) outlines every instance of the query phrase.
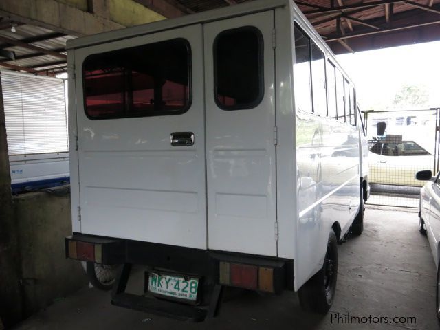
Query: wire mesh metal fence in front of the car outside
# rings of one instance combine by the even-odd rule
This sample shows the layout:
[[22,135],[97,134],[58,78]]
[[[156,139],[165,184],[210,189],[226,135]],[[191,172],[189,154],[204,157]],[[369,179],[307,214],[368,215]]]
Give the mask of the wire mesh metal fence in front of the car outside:
[[[439,169],[439,110],[364,112],[370,148],[368,203],[419,207],[424,182],[415,173]],[[380,122],[386,124],[386,133],[377,136]]]

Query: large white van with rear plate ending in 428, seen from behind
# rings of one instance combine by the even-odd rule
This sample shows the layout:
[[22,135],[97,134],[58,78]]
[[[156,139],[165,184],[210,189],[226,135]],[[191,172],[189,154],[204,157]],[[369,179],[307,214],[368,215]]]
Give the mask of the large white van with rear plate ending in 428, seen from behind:
[[[112,303],[203,320],[233,286],[299,291],[327,312],[336,243],[362,232],[368,146],[353,83],[294,2],[67,48],[66,254],[123,265]],[[131,265],[146,269],[144,296],[125,292]]]

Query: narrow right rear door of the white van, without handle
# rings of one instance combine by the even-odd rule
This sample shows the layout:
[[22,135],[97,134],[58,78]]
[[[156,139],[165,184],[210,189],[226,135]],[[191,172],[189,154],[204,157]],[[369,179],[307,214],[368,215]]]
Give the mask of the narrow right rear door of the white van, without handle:
[[204,25],[208,247],[276,256],[274,13]]

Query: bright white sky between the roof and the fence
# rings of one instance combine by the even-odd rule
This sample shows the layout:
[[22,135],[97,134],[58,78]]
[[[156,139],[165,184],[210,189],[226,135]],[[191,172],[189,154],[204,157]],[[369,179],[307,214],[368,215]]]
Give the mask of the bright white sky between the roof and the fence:
[[419,85],[428,107],[440,107],[440,41],[337,56],[356,85],[362,110],[392,109],[403,85]]

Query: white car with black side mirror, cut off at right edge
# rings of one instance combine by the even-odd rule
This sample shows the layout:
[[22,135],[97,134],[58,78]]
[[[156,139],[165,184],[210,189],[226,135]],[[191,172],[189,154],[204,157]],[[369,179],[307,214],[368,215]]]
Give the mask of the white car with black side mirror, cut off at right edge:
[[439,267],[439,247],[440,247],[440,173],[432,177],[430,170],[421,170],[417,173],[416,179],[428,181],[420,190],[420,210],[419,210],[419,231],[428,236],[432,256],[437,267],[437,298],[436,311],[440,321],[440,267]]

